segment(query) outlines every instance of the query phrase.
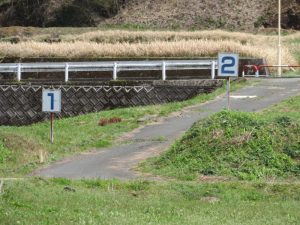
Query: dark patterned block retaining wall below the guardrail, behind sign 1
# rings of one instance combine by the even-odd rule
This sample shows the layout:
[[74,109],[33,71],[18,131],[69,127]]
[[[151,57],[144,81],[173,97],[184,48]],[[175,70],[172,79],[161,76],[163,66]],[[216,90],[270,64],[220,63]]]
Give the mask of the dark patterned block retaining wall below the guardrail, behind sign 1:
[[183,101],[209,93],[223,85],[222,80],[149,81],[128,84],[0,84],[0,125],[27,125],[44,121],[42,89],[62,90],[62,112],[70,117],[117,107]]

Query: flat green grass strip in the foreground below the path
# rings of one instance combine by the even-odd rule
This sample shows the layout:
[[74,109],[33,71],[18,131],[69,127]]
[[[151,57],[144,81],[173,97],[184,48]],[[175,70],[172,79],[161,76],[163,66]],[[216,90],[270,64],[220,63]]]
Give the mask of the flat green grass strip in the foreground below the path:
[[27,180],[6,182],[1,225],[299,224],[297,184]]

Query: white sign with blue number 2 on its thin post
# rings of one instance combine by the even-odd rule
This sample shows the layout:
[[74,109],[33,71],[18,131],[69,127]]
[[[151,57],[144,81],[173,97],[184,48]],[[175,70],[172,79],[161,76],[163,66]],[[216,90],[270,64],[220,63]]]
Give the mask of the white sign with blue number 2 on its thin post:
[[227,109],[230,110],[230,78],[238,77],[239,74],[239,55],[232,53],[219,53],[218,76],[227,80]]

